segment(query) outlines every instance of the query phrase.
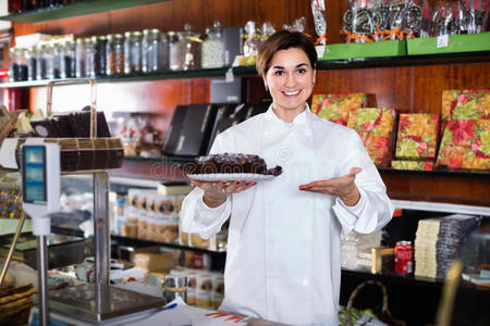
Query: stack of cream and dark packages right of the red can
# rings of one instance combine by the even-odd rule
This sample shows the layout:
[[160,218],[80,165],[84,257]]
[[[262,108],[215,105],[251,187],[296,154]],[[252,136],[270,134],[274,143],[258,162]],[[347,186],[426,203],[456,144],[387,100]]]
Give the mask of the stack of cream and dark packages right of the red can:
[[420,220],[415,237],[415,275],[444,278],[479,222],[479,217],[461,214]]

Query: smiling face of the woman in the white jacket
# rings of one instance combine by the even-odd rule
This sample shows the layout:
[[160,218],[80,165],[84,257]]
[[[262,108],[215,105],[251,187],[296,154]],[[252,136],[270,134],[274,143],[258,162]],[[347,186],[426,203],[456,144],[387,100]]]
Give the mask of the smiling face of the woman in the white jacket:
[[278,51],[264,76],[279,114],[301,113],[311,95],[316,71],[308,55],[299,48]]

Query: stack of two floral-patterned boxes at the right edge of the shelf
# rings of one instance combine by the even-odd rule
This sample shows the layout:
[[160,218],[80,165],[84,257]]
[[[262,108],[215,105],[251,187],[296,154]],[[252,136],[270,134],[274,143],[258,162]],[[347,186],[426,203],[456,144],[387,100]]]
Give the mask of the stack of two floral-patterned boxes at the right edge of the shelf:
[[490,170],[490,89],[442,93],[438,165]]

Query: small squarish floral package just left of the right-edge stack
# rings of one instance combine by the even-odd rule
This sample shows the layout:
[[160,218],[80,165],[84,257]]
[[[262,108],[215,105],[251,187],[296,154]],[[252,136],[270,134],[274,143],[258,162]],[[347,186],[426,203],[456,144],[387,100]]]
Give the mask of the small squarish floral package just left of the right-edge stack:
[[396,137],[396,159],[436,159],[439,115],[402,113]]

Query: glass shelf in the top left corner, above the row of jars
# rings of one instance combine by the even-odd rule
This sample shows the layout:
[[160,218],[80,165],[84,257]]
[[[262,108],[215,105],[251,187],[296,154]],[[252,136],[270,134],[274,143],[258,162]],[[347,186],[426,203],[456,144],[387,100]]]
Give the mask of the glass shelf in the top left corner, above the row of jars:
[[20,23],[40,23],[164,1],[169,0],[83,0],[53,8],[14,13],[1,16],[0,20]]

